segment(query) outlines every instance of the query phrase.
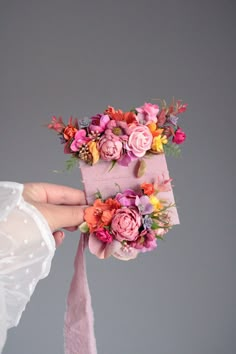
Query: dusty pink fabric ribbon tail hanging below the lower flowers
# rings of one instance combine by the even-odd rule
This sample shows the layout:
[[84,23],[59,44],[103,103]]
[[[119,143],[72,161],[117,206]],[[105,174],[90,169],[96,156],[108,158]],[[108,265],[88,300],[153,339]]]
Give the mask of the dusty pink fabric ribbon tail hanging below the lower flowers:
[[65,354],[97,354],[93,309],[84,260],[87,243],[88,235],[81,234],[67,297],[64,321]]

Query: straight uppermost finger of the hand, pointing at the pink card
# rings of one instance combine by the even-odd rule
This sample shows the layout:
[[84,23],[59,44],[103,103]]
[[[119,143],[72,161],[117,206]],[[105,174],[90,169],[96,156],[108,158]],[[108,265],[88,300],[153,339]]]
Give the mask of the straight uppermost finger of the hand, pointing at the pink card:
[[24,197],[39,203],[84,205],[83,191],[50,183],[25,183]]

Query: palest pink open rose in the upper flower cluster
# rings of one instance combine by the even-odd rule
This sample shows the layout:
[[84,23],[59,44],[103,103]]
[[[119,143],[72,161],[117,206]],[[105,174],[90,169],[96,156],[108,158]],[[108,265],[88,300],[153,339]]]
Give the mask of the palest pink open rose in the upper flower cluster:
[[146,151],[151,149],[152,139],[149,128],[146,125],[138,125],[132,129],[126,148],[136,157],[143,157]]

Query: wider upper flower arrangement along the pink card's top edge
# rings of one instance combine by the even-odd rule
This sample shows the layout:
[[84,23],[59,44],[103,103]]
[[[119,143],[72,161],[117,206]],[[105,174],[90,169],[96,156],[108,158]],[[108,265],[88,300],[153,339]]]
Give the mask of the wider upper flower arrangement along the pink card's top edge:
[[83,160],[93,165],[99,160],[128,166],[148,154],[167,153],[179,155],[186,134],[178,124],[178,115],[185,112],[187,104],[180,100],[168,106],[144,103],[143,106],[123,112],[114,107],[102,114],[81,120],[52,117],[49,129],[56,131],[64,144],[64,153],[71,154],[67,169]]

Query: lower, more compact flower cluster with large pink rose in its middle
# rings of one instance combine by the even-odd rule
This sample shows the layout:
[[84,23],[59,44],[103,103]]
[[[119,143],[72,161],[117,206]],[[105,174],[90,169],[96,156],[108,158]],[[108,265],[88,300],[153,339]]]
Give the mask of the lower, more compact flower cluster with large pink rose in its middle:
[[114,256],[122,260],[135,258],[139,252],[157,247],[172,227],[169,209],[173,204],[158,198],[171,189],[171,179],[157,178],[142,183],[137,190],[119,191],[102,199],[100,192],[92,206],[85,209],[80,231],[89,233],[89,249],[99,258]]

